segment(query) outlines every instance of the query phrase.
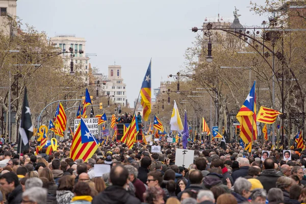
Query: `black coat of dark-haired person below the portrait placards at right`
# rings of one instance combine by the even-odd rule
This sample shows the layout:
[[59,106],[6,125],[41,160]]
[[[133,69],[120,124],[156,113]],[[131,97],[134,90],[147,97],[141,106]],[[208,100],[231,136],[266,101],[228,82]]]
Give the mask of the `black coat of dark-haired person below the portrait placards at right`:
[[271,188],[276,187],[276,181],[279,177],[281,176],[276,173],[275,169],[266,169],[256,179],[262,183],[264,189],[268,192]]

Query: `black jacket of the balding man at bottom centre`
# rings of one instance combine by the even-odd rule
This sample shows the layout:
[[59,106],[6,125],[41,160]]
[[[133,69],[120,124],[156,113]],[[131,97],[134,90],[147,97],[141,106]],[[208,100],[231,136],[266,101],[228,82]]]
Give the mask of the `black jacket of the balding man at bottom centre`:
[[140,204],[140,200],[120,186],[109,186],[105,191],[95,196],[92,204]]

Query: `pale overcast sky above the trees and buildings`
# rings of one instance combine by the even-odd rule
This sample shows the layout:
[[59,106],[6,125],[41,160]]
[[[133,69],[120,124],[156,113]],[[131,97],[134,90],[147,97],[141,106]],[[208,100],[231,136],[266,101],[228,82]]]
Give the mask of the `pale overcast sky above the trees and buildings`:
[[189,29],[218,13],[233,17],[235,6],[242,25],[267,19],[249,11],[249,0],[18,0],[17,16],[49,37],[84,37],[86,52],[97,54],[90,63],[102,73],[116,61],[133,107],[150,58],[154,89],[184,66],[185,50],[196,36]]

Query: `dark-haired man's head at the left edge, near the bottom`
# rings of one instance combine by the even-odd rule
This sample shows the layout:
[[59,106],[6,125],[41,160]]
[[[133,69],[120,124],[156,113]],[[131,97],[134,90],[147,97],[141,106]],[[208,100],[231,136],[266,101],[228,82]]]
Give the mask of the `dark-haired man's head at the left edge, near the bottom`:
[[5,194],[11,193],[19,185],[17,174],[14,172],[1,174],[0,185]]

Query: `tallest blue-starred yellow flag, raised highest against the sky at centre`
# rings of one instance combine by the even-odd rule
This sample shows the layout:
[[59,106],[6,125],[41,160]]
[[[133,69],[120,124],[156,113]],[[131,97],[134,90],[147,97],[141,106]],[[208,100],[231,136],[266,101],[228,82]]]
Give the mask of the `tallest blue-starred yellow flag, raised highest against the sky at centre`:
[[140,95],[140,102],[141,106],[143,107],[142,117],[145,121],[147,121],[151,113],[151,61],[142,82]]

